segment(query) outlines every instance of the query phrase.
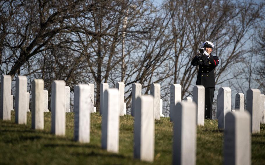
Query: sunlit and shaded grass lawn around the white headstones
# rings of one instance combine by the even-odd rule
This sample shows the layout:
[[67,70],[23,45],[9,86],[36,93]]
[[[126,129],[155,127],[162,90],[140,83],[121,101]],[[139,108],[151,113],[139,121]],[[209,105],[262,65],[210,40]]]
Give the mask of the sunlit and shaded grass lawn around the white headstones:
[[[27,125],[0,121],[0,164],[172,164],[172,123],[168,117],[155,121],[155,158],[153,163],[133,158],[133,117],[120,117],[119,153],[101,149],[101,116],[91,114],[90,143],[73,141],[74,114],[66,113],[66,136],[51,134],[51,112],[44,114],[44,130],[31,129],[31,112]],[[252,164],[265,164],[265,124],[252,134]],[[223,131],[217,120],[206,120],[197,127],[197,164],[222,164]]]

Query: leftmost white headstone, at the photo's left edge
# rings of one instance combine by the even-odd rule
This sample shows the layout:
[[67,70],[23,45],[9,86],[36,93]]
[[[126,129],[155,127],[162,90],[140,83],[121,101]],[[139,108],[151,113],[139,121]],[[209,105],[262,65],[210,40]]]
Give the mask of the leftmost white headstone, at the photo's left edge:
[[2,120],[11,120],[11,76],[1,76],[1,101],[0,101],[0,117]]

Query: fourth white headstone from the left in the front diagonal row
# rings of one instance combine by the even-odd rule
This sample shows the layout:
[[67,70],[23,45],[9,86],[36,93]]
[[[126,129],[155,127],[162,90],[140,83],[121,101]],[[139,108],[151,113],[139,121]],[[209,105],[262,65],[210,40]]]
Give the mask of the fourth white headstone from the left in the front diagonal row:
[[65,135],[65,82],[54,80],[52,82],[52,134]]

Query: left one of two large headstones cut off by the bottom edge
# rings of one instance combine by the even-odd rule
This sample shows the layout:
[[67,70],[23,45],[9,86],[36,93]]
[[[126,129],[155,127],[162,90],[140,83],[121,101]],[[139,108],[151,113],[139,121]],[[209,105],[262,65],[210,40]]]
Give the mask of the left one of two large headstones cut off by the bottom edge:
[[196,104],[177,103],[173,124],[173,164],[196,164]]

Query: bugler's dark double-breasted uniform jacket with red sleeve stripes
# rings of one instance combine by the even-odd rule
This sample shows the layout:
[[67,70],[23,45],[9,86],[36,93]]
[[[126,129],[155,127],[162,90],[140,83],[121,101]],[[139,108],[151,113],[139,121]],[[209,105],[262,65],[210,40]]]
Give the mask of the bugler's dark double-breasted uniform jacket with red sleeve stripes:
[[199,65],[196,85],[203,85],[205,88],[215,88],[214,69],[219,64],[219,58],[213,55],[209,58],[205,55],[195,56],[191,64],[193,66]]

